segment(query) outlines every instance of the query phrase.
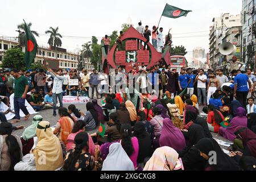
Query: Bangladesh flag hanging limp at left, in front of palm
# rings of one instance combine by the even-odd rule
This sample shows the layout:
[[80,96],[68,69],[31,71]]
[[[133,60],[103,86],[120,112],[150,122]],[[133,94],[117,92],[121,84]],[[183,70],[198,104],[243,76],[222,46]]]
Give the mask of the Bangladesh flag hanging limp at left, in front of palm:
[[[23,19],[24,21],[24,19]],[[36,43],[36,39],[34,35],[31,33],[30,28],[27,26],[27,23],[24,21],[25,24],[25,33],[26,33],[26,45],[25,45],[25,57],[24,61],[27,67],[30,67],[32,61],[35,59],[36,52],[38,51],[38,43]]]

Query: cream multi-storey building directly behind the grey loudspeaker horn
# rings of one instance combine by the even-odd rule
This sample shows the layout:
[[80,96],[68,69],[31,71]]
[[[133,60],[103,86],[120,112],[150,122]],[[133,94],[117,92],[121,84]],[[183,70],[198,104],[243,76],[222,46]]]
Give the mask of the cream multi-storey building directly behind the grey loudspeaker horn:
[[241,26],[241,15],[225,13],[220,17],[213,18],[212,22],[213,25],[210,26],[209,34],[209,66],[214,68],[222,62],[222,55],[218,47],[226,36],[226,30],[231,27]]

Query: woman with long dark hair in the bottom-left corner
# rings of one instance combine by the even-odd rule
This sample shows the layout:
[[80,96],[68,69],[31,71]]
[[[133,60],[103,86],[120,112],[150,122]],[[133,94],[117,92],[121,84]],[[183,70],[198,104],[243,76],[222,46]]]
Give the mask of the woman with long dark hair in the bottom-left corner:
[[22,143],[16,135],[12,135],[13,125],[0,123],[0,171],[14,171],[15,164],[22,160]]

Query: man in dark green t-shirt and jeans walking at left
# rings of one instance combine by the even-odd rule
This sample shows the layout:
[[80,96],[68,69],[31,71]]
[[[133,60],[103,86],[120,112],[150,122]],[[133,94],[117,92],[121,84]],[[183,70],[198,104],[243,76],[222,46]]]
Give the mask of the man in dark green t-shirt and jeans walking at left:
[[25,106],[26,93],[28,91],[28,82],[27,78],[20,76],[17,69],[11,70],[11,76],[14,79],[14,111],[16,120],[12,123],[20,122],[19,109],[25,114],[24,120],[26,121],[30,117],[30,113],[27,111]]

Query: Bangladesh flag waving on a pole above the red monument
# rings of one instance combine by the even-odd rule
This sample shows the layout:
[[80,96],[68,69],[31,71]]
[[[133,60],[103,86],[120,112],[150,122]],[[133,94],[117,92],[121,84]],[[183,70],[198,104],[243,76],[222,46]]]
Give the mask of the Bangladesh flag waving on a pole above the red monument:
[[189,12],[191,12],[191,10],[182,10],[166,3],[162,16],[166,16],[168,18],[179,18],[180,16],[187,16]]

